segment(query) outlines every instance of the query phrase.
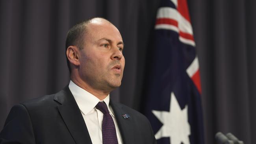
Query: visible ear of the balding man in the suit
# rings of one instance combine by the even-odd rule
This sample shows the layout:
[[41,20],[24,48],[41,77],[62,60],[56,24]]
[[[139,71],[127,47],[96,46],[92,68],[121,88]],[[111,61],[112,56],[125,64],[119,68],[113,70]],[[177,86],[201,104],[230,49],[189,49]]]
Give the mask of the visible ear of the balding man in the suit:
[[69,59],[69,62],[72,63],[75,66],[79,66],[80,62],[79,62],[79,57],[78,57],[78,47],[76,46],[69,46],[67,48],[67,58]]

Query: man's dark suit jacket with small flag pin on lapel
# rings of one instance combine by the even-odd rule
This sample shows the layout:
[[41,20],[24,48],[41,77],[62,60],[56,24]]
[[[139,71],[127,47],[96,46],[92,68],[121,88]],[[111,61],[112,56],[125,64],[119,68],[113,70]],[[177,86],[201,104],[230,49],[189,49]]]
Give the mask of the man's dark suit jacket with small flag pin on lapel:
[[[156,144],[148,119],[110,100],[123,144]],[[123,114],[129,114],[124,118]],[[91,144],[83,116],[68,87],[12,107],[0,144]]]

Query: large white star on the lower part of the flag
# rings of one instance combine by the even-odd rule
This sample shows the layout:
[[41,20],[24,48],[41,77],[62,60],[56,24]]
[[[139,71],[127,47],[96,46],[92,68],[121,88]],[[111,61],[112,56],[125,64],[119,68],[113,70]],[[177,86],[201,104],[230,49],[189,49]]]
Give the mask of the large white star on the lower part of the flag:
[[182,110],[171,92],[170,111],[155,111],[152,113],[160,120],[163,126],[156,133],[156,139],[170,137],[171,144],[189,144],[190,125],[188,123],[187,105]]

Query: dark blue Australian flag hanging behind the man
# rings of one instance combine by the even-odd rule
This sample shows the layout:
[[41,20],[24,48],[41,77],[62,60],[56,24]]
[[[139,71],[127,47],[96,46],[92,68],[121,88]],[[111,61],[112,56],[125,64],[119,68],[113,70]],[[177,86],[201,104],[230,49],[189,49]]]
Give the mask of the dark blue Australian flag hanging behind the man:
[[158,144],[204,144],[199,63],[186,0],[162,0],[143,100]]

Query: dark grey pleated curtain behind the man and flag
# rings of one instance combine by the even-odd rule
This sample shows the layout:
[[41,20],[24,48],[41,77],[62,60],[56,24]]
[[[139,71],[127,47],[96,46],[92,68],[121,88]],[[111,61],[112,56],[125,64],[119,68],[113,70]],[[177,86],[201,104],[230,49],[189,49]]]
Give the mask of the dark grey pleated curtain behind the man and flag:
[[[69,82],[69,28],[104,17],[119,28],[126,66],[111,97],[140,110],[158,0],[0,0],[0,129],[15,103]],[[217,131],[256,141],[256,1],[188,0],[202,81],[206,144]]]

